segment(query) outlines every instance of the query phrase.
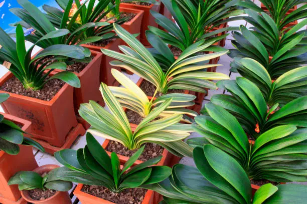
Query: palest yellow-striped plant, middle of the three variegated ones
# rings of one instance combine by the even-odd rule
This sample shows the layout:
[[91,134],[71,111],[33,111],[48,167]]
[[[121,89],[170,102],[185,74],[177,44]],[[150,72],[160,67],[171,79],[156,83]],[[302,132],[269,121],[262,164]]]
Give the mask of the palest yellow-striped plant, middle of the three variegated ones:
[[[116,99],[122,105],[142,117],[148,116],[151,111],[154,111],[160,104],[167,99],[172,98],[172,103],[168,106],[159,116],[167,117],[172,114],[187,114],[191,116],[197,116],[197,112],[187,109],[186,107],[194,105],[193,100],[196,98],[192,94],[184,93],[169,93],[150,100],[146,94],[138,87],[133,81],[126,77],[123,73],[117,69],[111,70],[115,79],[123,86],[109,86],[111,92]],[[187,118],[182,118],[183,121],[190,122]]]

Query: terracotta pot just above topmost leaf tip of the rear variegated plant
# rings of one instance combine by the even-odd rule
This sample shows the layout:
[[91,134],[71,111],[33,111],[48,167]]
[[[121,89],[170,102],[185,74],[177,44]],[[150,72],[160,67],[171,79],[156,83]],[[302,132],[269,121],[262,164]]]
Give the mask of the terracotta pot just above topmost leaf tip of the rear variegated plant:
[[[128,12],[128,13],[134,13],[136,14],[129,22],[123,23],[121,26],[127,30],[128,32],[134,34],[134,33],[140,33],[140,28],[144,16],[144,11],[139,9],[133,9],[133,8],[127,8],[120,4],[119,7],[120,12]],[[136,37],[138,40],[140,39],[140,35]],[[122,39],[120,40],[120,44],[127,45]]]

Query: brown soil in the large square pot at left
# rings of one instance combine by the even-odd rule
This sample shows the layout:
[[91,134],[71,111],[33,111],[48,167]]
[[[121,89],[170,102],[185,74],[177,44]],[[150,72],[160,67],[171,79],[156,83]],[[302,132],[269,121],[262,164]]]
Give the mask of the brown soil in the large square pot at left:
[[31,90],[24,88],[20,80],[13,76],[0,86],[0,90],[49,101],[57,94],[64,84],[65,82],[60,79],[52,79],[49,80],[42,89]]

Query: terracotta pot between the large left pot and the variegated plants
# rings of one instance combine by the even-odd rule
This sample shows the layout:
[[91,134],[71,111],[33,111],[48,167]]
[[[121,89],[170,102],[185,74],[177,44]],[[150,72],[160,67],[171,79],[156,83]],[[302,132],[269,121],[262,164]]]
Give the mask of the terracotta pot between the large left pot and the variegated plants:
[[[95,100],[96,102],[100,102],[102,106],[104,106],[104,102],[102,101],[102,96],[99,91],[100,81],[100,64],[102,53],[91,50],[92,56],[94,58],[92,61],[86,65],[86,67],[81,72],[74,72],[81,82],[80,88],[74,88],[74,107],[76,115],[79,115],[78,109],[81,103],[86,103],[89,100]],[[61,72],[61,69],[54,69],[55,72]]]

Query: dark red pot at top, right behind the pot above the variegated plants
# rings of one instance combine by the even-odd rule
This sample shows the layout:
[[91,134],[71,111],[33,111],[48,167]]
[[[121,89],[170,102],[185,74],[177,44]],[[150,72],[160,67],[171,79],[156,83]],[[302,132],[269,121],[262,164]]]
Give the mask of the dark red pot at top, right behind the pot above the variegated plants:
[[138,10],[144,11],[144,16],[141,24],[141,30],[140,30],[140,41],[145,46],[149,46],[150,43],[146,39],[145,31],[148,29],[148,25],[158,27],[158,24],[155,21],[155,17],[150,14],[150,10],[154,10],[156,12],[159,12],[160,10],[160,4],[155,5],[137,5],[132,3],[120,3],[120,7],[125,8],[134,8]]

